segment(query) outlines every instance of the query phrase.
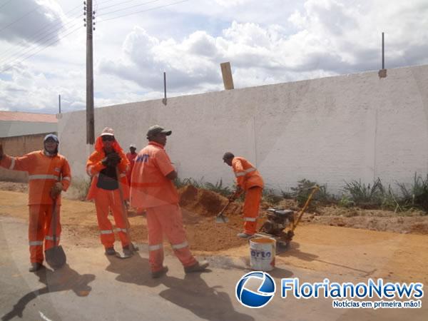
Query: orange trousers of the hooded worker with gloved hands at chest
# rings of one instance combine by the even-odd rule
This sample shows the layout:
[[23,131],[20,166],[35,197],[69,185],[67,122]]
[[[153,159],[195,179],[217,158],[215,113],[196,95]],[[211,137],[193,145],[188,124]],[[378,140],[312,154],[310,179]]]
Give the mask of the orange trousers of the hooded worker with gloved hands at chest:
[[114,232],[113,226],[108,219],[108,213],[113,213],[116,230],[121,239],[122,247],[129,244],[128,234],[126,233],[126,222],[123,219],[121,193],[116,190],[103,190],[97,188],[95,195],[96,218],[98,219],[98,228],[100,229],[100,239],[105,248],[113,248]]

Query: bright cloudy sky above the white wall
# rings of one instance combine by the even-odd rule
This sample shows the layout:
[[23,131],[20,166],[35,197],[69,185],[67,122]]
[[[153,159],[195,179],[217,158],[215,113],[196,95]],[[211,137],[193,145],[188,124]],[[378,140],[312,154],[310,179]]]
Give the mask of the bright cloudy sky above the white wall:
[[[0,0],[0,110],[86,108],[83,0]],[[95,107],[428,63],[427,0],[93,0]]]

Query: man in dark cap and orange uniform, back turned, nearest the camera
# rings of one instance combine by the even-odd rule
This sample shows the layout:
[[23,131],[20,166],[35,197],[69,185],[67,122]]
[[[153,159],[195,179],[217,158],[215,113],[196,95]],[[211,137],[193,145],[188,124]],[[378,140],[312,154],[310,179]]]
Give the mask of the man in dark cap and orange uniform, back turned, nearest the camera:
[[208,267],[208,262],[195,260],[185,238],[178,193],[173,184],[177,172],[164,149],[166,136],[171,133],[158,125],[148,128],[148,146],[138,153],[131,178],[131,206],[146,208],[148,259],[153,278],[168,272],[168,267],[163,266],[163,233],[185,273],[202,272]]

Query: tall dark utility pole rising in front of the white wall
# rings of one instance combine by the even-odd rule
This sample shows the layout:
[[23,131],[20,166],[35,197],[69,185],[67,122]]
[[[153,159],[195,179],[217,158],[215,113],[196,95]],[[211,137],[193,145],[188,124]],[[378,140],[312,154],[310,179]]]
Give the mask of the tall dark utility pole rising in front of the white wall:
[[95,120],[93,115],[93,23],[95,11],[92,11],[92,0],[83,2],[86,14],[86,143],[95,143]]

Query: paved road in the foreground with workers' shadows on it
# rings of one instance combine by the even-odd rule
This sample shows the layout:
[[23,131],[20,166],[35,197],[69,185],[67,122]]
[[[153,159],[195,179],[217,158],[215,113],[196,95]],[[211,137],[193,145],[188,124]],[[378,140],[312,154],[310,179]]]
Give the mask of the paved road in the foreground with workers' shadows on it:
[[133,258],[120,260],[103,255],[101,245],[79,248],[64,240],[68,265],[34,274],[27,271],[26,230],[26,222],[0,216],[1,320],[428,320],[428,300],[422,309],[372,310],[334,309],[330,298],[282,299],[282,277],[358,280],[287,266],[270,272],[277,285],[272,301],[250,309],[235,298],[236,283],[250,271],[247,258],[209,257],[210,272],[185,275],[178,260],[167,255],[170,271],[152,280],[146,245]]

